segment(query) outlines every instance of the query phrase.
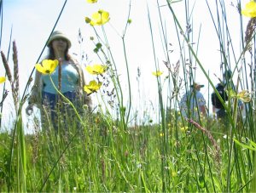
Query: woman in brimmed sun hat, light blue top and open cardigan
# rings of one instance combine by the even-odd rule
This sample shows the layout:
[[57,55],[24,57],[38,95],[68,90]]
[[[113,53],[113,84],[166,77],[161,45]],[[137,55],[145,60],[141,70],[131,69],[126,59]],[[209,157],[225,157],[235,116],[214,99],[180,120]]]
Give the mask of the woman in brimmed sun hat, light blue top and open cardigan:
[[[54,31],[47,43],[49,54],[46,60],[59,60],[59,65],[50,74],[50,77],[56,88],[61,86],[61,88],[59,87],[61,94],[67,97],[79,112],[84,112],[81,107],[87,105],[90,110],[91,99],[83,90],[85,81],[81,65],[68,54],[71,45],[69,38],[63,32]],[[61,79],[59,79],[59,73],[61,74]],[[75,116],[73,108],[64,101],[55,90],[49,75],[36,71],[32,93],[26,107],[26,114],[31,115],[33,106],[37,106],[41,113],[42,128],[48,129],[51,125],[57,130],[59,125],[58,115],[66,115],[64,119],[72,119]]]

